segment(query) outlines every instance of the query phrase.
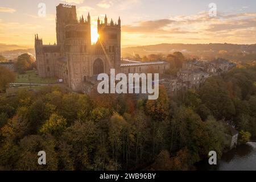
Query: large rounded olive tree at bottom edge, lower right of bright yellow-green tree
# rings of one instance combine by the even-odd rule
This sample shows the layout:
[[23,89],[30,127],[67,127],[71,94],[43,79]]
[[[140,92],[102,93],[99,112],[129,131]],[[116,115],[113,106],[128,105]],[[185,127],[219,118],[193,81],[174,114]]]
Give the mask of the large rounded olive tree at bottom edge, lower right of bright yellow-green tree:
[[75,121],[61,135],[61,168],[92,170],[94,151],[98,145],[96,124],[92,121]]

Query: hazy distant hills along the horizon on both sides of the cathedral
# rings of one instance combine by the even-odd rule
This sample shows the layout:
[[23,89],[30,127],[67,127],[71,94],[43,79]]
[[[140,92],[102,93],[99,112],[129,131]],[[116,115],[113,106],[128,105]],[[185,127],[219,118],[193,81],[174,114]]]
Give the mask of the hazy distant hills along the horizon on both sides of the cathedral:
[[[158,53],[168,55],[176,51],[182,52],[188,58],[223,57],[230,60],[256,60],[256,44],[156,44],[122,47],[121,49],[122,57],[133,57],[135,54],[139,54],[141,57]],[[0,54],[6,59],[16,59],[22,53],[31,53],[35,56],[35,49],[0,43]]]

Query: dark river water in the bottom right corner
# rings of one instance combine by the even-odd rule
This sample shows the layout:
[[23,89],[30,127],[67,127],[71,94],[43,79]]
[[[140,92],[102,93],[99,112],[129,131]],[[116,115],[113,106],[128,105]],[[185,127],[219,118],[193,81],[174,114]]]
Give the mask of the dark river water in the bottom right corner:
[[196,164],[198,170],[256,171],[256,143],[237,146],[222,155],[217,165],[210,166],[208,160]]

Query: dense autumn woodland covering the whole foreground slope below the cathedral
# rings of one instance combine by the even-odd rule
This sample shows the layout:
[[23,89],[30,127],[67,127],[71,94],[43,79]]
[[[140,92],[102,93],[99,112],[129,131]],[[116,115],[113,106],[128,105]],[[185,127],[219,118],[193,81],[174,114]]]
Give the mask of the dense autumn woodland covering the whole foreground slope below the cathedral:
[[[210,77],[199,90],[158,100],[85,95],[57,86],[0,96],[0,169],[195,169],[225,149],[221,119],[256,137],[256,67]],[[250,135],[249,135],[250,134]],[[47,166],[37,164],[38,151]]]

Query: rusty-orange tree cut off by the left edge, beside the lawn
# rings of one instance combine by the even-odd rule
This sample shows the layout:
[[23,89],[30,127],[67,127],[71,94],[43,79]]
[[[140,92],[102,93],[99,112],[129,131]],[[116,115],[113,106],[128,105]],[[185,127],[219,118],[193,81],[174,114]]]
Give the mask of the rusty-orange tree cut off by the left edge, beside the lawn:
[[0,67],[0,91],[6,91],[6,88],[10,82],[15,81],[15,75],[9,69]]

